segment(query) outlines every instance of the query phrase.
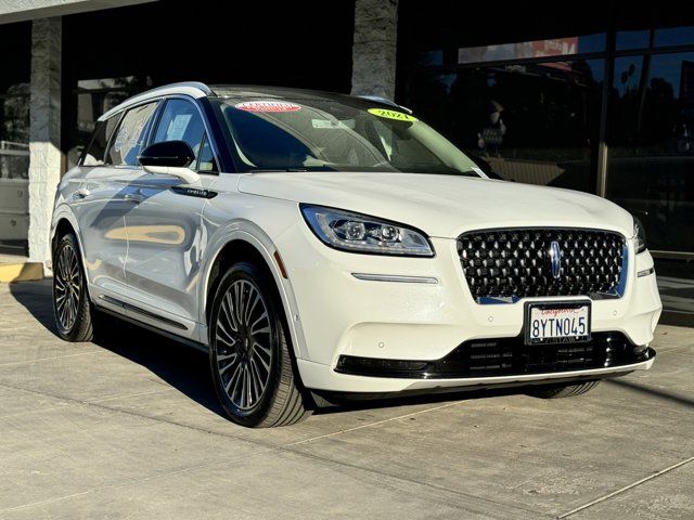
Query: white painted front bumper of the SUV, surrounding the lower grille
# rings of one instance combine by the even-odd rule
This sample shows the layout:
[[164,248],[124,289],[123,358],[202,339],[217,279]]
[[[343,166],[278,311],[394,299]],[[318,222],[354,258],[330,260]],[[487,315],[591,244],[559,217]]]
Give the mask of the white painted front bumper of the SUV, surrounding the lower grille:
[[[652,358],[635,356],[609,366],[563,367],[541,373],[460,372],[440,377],[424,374],[394,377],[387,370],[345,373],[339,364],[346,356],[430,363],[445,360],[468,341],[519,338],[526,301],[573,299],[527,298],[516,303],[476,303],[463,276],[455,240],[433,238],[432,243],[437,255],[427,259],[348,253],[325,247],[304,222],[278,240],[278,249],[288,268],[285,283],[294,295],[291,312],[294,330],[298,332],[294,338],[299,343],[297,364],[307,388],[401,392],[587,376],[601,378],[651,367]],[[594,300],[591,328],[593,333],[619,333],[630,348],[642,347],[637,351],[646,352],[661,304],[655,275],[637,276],[638,272],[653,266],[650,253],[635,257],[630,247],[629,256],[625,296]],[[363,280],[355,273],[429,278],[435,283]]]

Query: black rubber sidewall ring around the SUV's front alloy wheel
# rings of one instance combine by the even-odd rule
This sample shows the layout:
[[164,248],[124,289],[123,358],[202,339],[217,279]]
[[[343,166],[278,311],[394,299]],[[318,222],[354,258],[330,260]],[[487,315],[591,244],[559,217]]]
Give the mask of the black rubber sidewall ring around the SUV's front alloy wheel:
[[[270,378],[268,380],[268,388],[266,388],[266,391],[262,393],[260,401],[250,411],[241,411],[232,403],[231,399],[224,391],[223,384],[217,368],[217,340],[215,330],[217,320],[219,318],[219,313],[221,311],[222,298],[231,285],[240,280],[244,280],[256,287],[262,297],[270,316],[270,343],[272,349]],[[286,337],[283,329],[282,315],[278,313],[278,308],[279,306],[275,301],[274,291],[269,287],[268,282],[265,280],[260,271],[252,263],[239,262],[233,264],[227,273],[224,273],[221,282],[217,286],[217,290],[215,291],[208,327],[209,367],[211,378],[215,385],[215,391],[217,392],[217,396],[219,398],[219,402],[221,403],[224,412],[231,420],[243,426],[253,427],[260,424],[268,415],[273,401],[277,399],[280,375],[282,373],[282,348],[285,341],[284,338]]]

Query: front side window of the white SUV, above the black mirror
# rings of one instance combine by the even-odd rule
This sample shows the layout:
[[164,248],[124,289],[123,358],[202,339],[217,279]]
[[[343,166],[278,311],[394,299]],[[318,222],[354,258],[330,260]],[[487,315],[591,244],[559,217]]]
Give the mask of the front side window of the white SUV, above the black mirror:
[[[203,118],[191,102],[185,100],[167,101],[154,135],[155,143],[183,141],[192,148],[195,154],[195,162],[197,162],[197,157],[203,148],[204,135]],[[195,168],[195,164],[191,165],[191,168]]]

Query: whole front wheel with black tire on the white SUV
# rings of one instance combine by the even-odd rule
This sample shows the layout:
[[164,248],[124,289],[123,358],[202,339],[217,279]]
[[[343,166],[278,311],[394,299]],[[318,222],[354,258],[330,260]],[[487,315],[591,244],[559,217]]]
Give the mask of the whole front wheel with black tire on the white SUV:
[[271,278],[253,263],[233,264],[217,287],[209,323],[215,390],[232,421],[270,428],[311,414]]

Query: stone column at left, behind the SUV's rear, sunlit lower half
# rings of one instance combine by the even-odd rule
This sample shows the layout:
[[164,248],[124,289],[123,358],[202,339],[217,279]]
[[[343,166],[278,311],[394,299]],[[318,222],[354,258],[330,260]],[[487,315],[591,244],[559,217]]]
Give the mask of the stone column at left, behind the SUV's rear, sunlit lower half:
[[31,23],[29,99],[29,260],[51,258],[49,233],[61,178],[62,18]]

